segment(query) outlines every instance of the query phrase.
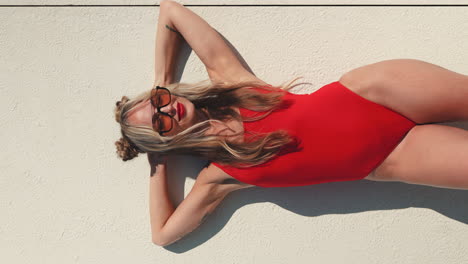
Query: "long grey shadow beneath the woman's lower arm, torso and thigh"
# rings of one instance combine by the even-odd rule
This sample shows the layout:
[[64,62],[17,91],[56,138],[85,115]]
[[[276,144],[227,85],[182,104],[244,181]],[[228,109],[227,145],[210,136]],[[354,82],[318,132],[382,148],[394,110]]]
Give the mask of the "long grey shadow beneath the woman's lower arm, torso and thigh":
[[[183,197],[183,193],[179,195]],[[234,212],[248,204],[273,203],[303,217],[417,207],[432,209],[446,217],[468,224],[467,200],[468,192],[465,190],[369,180],[300,187],[253,187],[229,194],[197,229],[164,248],[174,253],[184,253],[203,244],[227,225]],[[258,219],[260,222],[263,220],[265,219]]]

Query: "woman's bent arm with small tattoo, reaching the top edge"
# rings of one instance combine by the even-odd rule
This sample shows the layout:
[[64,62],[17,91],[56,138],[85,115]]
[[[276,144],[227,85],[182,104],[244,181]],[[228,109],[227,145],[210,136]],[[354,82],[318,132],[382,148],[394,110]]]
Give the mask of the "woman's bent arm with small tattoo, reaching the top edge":
[[[252,80],[264,83],[245,69],[218,32],[190,9],[177,2],[163,0],[160,3],[160,19],[158,36],[162,36],[160,41],[156,43],[156,63],[164,64],[164,66],[156,64],[157,74],[164,74],[165,78],[169,78],[168,71],[170,75],[170,67],[174,67],[176,48],[174,50],[168,49],[177,44],[172,45],[167,36],[170,36],[173,41],[182,36],[205,65],[210,79],[221,82]],[[162,22],[164,25],[161,24]],[[166,25],[179,32],[180,35],[166,28]],[[164,40],[165,38],[166,40]]]

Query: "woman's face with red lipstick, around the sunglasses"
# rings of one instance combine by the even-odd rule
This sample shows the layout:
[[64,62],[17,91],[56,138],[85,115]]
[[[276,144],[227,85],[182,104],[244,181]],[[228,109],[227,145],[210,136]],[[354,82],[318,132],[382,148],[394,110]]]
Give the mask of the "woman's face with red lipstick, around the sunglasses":
[[[127,121],[131,125],[144,125],[153,127],[151,123],[153,115],[157,109],[151,105],[149,100],[138,103],[132,110]],[[197,124],[203,120],[203,114],[195,109],[195,106],[188,99],[171,95],[171,102],[161,108],[161,112],[169,114],[172,118],[172,129],[163,133],[163,136],[177,135],[179,132]]]

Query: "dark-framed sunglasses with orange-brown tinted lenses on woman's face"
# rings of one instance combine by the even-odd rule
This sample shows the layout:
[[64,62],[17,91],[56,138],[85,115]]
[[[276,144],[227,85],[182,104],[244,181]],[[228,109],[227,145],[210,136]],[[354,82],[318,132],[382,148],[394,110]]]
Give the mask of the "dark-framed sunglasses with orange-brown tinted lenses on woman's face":
[[151,105],[158,111],[154,113],[151,123],[153,124],[154,131],[162,136],[172,129],[172,120],[174,119],[167,113],[161,112],[161,108],[171,102],[171,93],[167,88],[156,86],[151,90]]

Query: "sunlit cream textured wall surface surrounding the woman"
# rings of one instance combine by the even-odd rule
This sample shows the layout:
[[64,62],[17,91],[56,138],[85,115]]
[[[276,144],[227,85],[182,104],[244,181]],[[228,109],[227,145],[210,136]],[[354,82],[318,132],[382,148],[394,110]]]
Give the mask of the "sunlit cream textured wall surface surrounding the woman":
[[[468,73],[468,7],[192,10],[265,81],[305,76],[312,85],[297,93],[391,58]],[[466,191],[370,181],[238,191],[186,238],[153,245],[149,166],[146,156],[116,158],[113,108],[153,83],[157,16],[157,7],[0,7],[2,263],[468,262]],[[182,81],[204,78],[192,52]],[[201,162],[169,166],[180,202]]]

